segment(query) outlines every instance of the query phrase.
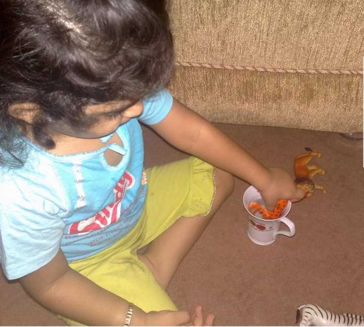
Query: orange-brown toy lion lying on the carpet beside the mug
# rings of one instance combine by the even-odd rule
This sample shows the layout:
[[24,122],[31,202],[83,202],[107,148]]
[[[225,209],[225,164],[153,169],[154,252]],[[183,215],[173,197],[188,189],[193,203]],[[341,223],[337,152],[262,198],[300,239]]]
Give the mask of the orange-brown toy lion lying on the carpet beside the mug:
[[319,173],[320,175],[323,175],[325,173],[325,170],[317,167],[316,165],[307,165],[313,156],[320,158],[321,153],[314,152],[310,148],[305,149],[306,151],[309,151],[309,153],[303,153],[295,157],[295,183],[297,185],[297,188],[306,191],[305,198],[309,198],[312,195],[314,189],[319,189],[323,193],[326,193],[326,189],[324,188],[324,186],[317,185],[312,181],[312,177],[315,174]]

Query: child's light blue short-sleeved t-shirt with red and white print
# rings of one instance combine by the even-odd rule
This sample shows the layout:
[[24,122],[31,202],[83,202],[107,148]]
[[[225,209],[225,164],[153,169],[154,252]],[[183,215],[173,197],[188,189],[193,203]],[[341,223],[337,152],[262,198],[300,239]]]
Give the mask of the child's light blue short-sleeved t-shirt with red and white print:
[[[160,122],[172,102],[166,89],[145,100],[142,115],[116,130],[123,147],[56,156],[26,141],[24,167],[0,176],[0,263],[9,279],[47,264],[59,247],[71,262],[110,247],[132,229],[147,188],[139,121]],[[123,156],[118,165],[108,164],[107,149]]]

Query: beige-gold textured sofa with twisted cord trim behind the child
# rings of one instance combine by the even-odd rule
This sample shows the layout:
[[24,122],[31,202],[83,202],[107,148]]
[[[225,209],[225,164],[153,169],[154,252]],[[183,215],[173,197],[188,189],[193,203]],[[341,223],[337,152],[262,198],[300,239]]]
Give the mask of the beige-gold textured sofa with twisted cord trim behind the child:
[[364,2],[169,0],[169,88],[213,122],[362,131]]

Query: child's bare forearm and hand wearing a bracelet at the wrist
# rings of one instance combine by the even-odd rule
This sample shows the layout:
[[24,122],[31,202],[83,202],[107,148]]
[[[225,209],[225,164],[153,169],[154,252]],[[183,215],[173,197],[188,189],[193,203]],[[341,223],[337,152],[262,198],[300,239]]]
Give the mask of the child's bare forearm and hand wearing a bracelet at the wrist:
[[[20,278],[27,293],[45,308],[86,325],[124,325],[128,302],[71,269],[61,250],[48,264]],[[179,325],[187,311],[145,313],[134,305],[130,325]]]

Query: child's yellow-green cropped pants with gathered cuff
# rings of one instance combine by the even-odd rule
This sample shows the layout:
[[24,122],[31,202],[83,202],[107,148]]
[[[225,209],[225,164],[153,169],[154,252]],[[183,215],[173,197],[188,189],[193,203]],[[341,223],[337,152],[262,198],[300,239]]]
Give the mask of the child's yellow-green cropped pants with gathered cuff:
[[[190,157],[147,169],[147,180],[146,207],[134,228],[110,248],[70,266],[146,312],[177,310],[136,252],[178,218],[209,213],[215,195],[214,168]],[[70,325],[81,325],[61,318]]]

